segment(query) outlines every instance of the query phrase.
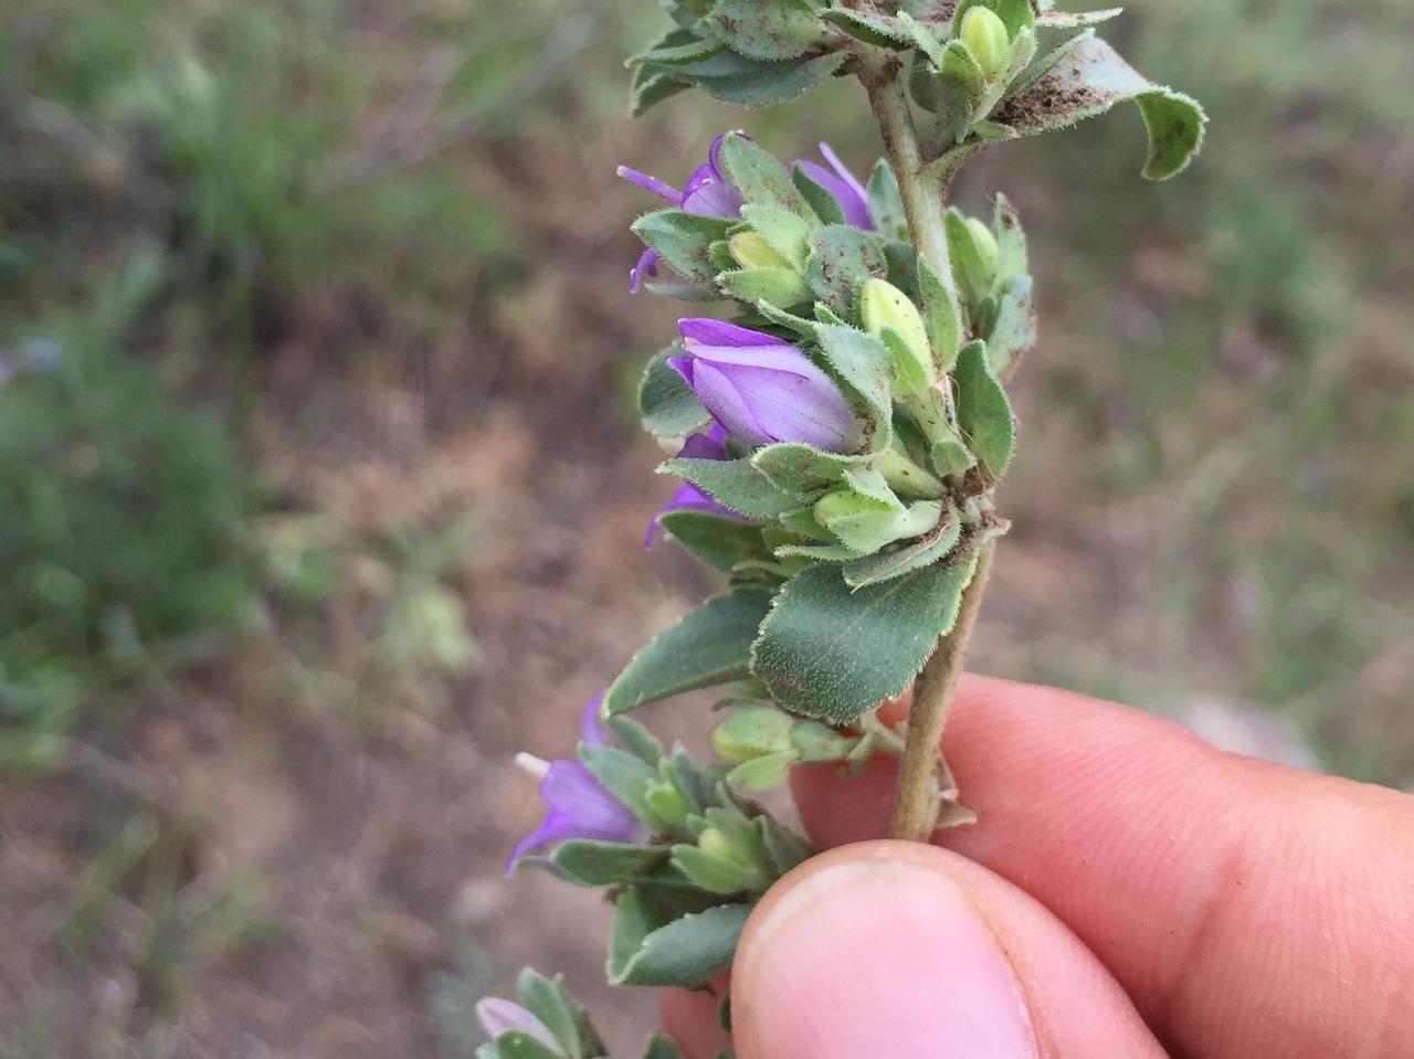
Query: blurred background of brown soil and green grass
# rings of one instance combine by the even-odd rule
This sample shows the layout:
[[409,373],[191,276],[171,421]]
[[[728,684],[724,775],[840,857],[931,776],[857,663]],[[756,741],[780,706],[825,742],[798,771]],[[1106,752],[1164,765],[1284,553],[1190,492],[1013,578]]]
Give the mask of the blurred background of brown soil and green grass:
[[[0,0],[0,1055],[460,1059],[523,961],[646,1025],[594,895],[502,878],[510,755],[714,585],[642,550],[682,312],[614,168],[880,151],[846,83],[631,123],[663,21]],[[1164,185],[1133,107],[962,181],[1042,304],[973,666],[1408,786],[1414,8],[1106,28],[1212,129]]]

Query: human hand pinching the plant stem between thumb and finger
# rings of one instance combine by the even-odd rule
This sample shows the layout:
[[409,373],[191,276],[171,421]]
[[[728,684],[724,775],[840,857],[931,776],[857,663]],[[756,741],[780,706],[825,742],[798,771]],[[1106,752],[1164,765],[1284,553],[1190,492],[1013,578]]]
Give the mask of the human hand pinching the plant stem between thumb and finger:
[[[867,841],[892,761],[792,778],[830,851],[747,926],[740,1059],[1414,1056],[1414,797],[986,677],[945,745],[980,820],[936,847]],[[663,1018],[727,1043],[714,998]]]

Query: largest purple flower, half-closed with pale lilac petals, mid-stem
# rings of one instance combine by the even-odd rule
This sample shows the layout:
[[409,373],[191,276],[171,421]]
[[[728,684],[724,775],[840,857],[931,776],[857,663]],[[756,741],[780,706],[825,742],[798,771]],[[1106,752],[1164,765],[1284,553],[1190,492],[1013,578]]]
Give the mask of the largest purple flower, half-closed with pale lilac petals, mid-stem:
[[860,441],[850,403],[785,339],[717,320],[680,320],[686,356],[667,361],[731,437],[844,452]]

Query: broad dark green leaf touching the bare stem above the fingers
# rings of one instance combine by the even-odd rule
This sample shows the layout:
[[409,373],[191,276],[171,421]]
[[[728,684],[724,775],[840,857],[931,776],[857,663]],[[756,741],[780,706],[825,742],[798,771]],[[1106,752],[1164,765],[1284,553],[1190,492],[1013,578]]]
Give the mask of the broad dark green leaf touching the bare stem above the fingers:
[[792,713],[847,724],[908,687],[957,619],[974,566],[969,556],[858,590],[813,566],[776,597],[752,672]]

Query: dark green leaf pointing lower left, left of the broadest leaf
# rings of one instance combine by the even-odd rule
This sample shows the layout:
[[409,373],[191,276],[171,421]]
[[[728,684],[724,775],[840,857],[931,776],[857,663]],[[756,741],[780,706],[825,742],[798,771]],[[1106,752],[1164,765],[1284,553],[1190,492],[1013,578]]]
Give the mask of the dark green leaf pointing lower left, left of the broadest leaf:
[[771,608],[764,591],[720,595],[684,615],[633,656],[609,687],[609,715],[749,674],[751,643]]

